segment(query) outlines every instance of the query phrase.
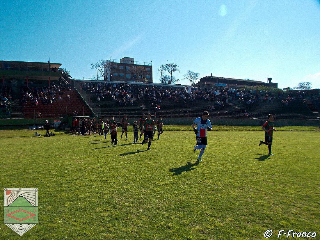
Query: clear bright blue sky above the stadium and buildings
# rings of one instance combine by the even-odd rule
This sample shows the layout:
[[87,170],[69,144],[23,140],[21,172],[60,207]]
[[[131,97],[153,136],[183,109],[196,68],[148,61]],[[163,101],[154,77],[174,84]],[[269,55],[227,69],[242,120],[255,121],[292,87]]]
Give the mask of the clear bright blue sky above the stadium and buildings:
[[[91,78],[91,63],[133,57],[177,63],[200,77],[320,88],[320,2],[1,1],[0,59],[62,63]],[[179,81],[188,84],[188,81]]]

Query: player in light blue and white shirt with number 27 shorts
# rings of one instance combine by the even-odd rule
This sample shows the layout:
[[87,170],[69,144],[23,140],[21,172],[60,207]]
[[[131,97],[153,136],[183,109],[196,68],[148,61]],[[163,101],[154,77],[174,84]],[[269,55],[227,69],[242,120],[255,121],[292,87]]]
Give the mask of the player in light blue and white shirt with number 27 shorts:
[[[209,113],[208,111],[204,111],[202,113],[202,117],[196,118],[196,120],[192,124],[192,128],[196,133],[196,146],[193,149],[193,152],[196,152],[196,150],[200,150],[199,156],[197,158],[197,161],[202,161],[201,157],[204,154],[204,149],[208,145],[207,142],[207,130],[212,130],[212,125],[210,120],[208,119]],[[197,125],[197,128],[195,126]]]

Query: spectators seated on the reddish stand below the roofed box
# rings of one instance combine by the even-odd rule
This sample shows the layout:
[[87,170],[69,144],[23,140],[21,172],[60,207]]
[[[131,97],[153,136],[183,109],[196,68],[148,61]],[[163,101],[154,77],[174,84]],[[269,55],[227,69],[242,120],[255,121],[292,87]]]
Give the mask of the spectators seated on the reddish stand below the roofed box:
[[[66,94],[65,91],[70,91],[71,87],[64,85],[52,85],[51,87],[21,87],[20,92],[21,104],[23,107],[49,105],[55,101],[62,101],[62,97]],[[70,100],[70,95],[66,94],[66,98]]]

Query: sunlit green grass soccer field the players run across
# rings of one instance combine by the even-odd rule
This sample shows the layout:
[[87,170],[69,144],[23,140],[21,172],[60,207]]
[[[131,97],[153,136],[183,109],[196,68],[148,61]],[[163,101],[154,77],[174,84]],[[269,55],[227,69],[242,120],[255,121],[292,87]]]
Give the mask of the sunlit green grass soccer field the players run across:
[[151,151],[120,136],[1,138],[1,187],[38,188],[39,223],[21,237],[0,224],[0,239],[319,238],[320,132],[276,132],[274,156],[262,130],[208,132],[200,163],[193,131],[155,135]]

